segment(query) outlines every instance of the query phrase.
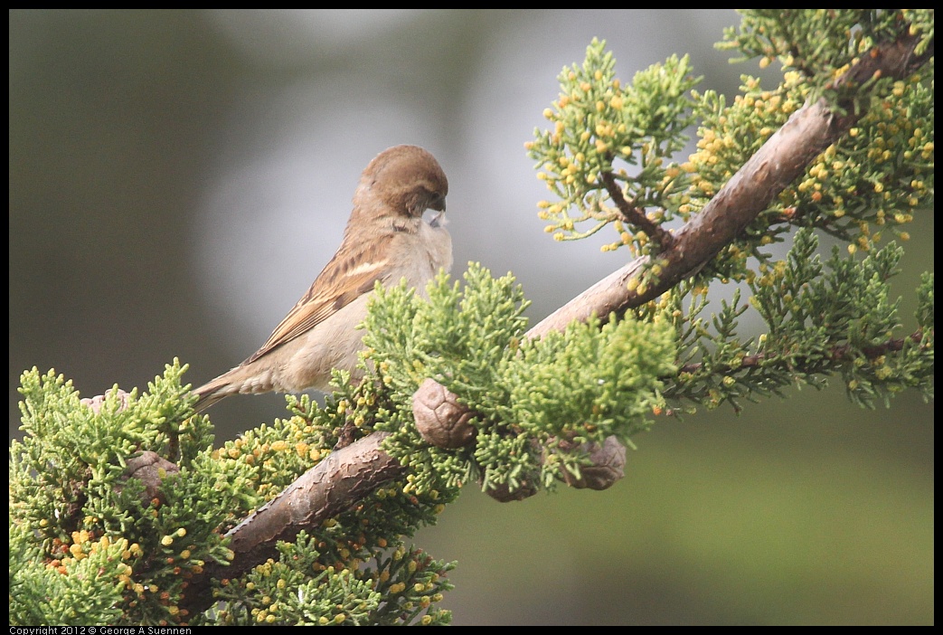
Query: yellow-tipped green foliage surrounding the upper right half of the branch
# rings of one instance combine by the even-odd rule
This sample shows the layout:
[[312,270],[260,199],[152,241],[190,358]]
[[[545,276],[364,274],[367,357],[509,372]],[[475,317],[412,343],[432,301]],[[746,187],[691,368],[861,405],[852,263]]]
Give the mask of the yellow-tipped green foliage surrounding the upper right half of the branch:
[[[582,67],[564,69],[560,97],[544,111],[554,127],[536,130],[527,144],[538,178],[559,198],[538,203],[538,215],[551,221],[547,230],[557,240],[611,225],[620,240],[603,250],[627,245],[633,256],[658,254],[663,226],[700,212],[810,100],[823,97],[839,113],[851,108],[860,115],[694,280],[637,309],[643,321],[669,314],[678,334],[679,373],[664,388],[670,411],[721,403],[739,409],[738,399],[780,394],[789,384],[820,387],[832,374],[864,406],[886,404],[905,387],[925,398],[933,393],[932,281],[918,290],[918,331],[901,337],[887,278],[902,249],[878,250],[886,230],[908,240],[904,226],[934,203],[933,60],[902,80],[835,83],[874,46],[909,33],[925,47],[933,28],[933,11],[926,9],[745,10],[719,47],[738,52],[741,61],[758,57],[764,67],[779,59],[783,79],[764,90],[745,75],[732,102],[691,90],[696,80],[687,58],[655,65],[622,89],[611,53],[593,41]],[[680,162],[674,155],[686,141],[682,132],[695,121],[697,149]],[[618,161],[639,166],[637,175],[625,174]],[[628,205],[618,206],[620,197]],[[577,229],[587,222],[587,231]],[[766,247],[796,227],[806,230],[796,234],[786,259],[774,261]],[[823,266],[811,229],[849,242],[850,257],[835,252]],[[860,253],[870,255],[856,259]],[[655,262],[646,274],[657,275],[658,267]],[[753,297],[741,302],[741,288],[703,317],[712,280],[743,282]],[[741,342],[739,320],[751,307],[769,332]]]

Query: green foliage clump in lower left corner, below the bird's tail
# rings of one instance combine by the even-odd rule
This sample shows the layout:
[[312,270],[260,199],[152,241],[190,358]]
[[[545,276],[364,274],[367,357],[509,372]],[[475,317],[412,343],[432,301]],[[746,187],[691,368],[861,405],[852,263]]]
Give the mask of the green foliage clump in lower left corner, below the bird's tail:
[[[97,411],[62,376],[24,373],[25,437],[10,446],[10,549],[28,556],[10,569],[19,623],[177,623],[186,578],[230,557],[215,530],[245,509],[245,470],[207,460],[185,370],[174,361],[148,393],[110,391]],[[162,473],[166,500],[127,474],[143,450],[180,468]]]

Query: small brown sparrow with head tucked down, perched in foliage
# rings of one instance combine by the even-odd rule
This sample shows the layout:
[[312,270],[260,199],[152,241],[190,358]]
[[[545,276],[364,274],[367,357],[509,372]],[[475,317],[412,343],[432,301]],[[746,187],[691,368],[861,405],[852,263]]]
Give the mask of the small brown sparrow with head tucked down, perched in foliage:
[[[405,278],[424,293],[440,269],[452,267],[448,191],[438,160],[418,145],[395,145],[373,158],[360,175],[337,253],[266,343],[193,391],[194,410],[238,393],[326,393],[332,368],[359,380],[364,331],[357,326],[375,283],[390,287]],[[426,218],[429,209],[438,213]]]

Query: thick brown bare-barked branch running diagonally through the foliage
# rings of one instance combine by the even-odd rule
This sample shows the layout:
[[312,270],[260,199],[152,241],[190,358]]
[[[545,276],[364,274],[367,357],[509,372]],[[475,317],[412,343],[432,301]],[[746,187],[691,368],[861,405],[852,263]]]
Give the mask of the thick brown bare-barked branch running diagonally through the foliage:
[[[932,42],[923,55],[915,56],[917,43],[918,37],[905,32],[896,42],[875,47],[835,87],[861,85],[876,76],[910,75],[933,56]],[[663,268],[657,281],[644,288],[629,289],[629,280],[638,276],[649,261],[636,259],[554,311],[526,336],[534,338],[562,330],[573,320],[586,321],[593,314],[603,319],[610,312],[622,314],[696,272],[724,245],[734,241],[774,196],[802,175],[809,162],[853,125],[858,115],[853,113],[851,100],[839,102],[838,106],[844,113],[833,111],[820,99],[795,112],[700,214],[675,232],[673,240],[660,242],[662,250],[657,259]],[[455,399],[436,382],[427,381],[414,401],[428,400],[432,393],[438,394],[438,398],[451,395]],[[463,414],[462,409],[449,412],[455,419]],[[374,432],[333,452],[284,493],[230,530],[227,535],[232,538],[234,560],[227,567],[208,564],[203,574],[190,580],[180,606],[191,613],[206,610],[213,603],[209,593],[211,580],[240,575],[272,557],[277,541],[293,539],[302,529],[318,526],[323,520],[351,509],[384,483],[403,476],[405,468],[380,449],[385,436]]]

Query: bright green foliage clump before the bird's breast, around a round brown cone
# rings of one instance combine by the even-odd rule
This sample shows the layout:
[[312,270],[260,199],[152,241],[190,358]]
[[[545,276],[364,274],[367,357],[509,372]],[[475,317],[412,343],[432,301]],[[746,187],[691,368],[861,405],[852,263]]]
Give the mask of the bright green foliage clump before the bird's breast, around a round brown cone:
[[[390,391],[383,397],[389,408],[372,409],[373,427],[392,432],[385,443],[412,468],[410,492],[445,493],[472,478],[511,492],[549,487],[564,470],[578,474],[584,443],[611,435],[627,441],[649,425],[646,414],[660,403],[659,377],[673,368],[667,321],[614,320],[600,328],[593,320],[521,341],[521,288],[473,263],[464,290],[443,275],[428,296],[425,302],[402,286],[377,288],[366,322],[377,379],[364,385]],[[422,441],[411,403],[426,377],[475,413],[470,447],[443,450]]]

